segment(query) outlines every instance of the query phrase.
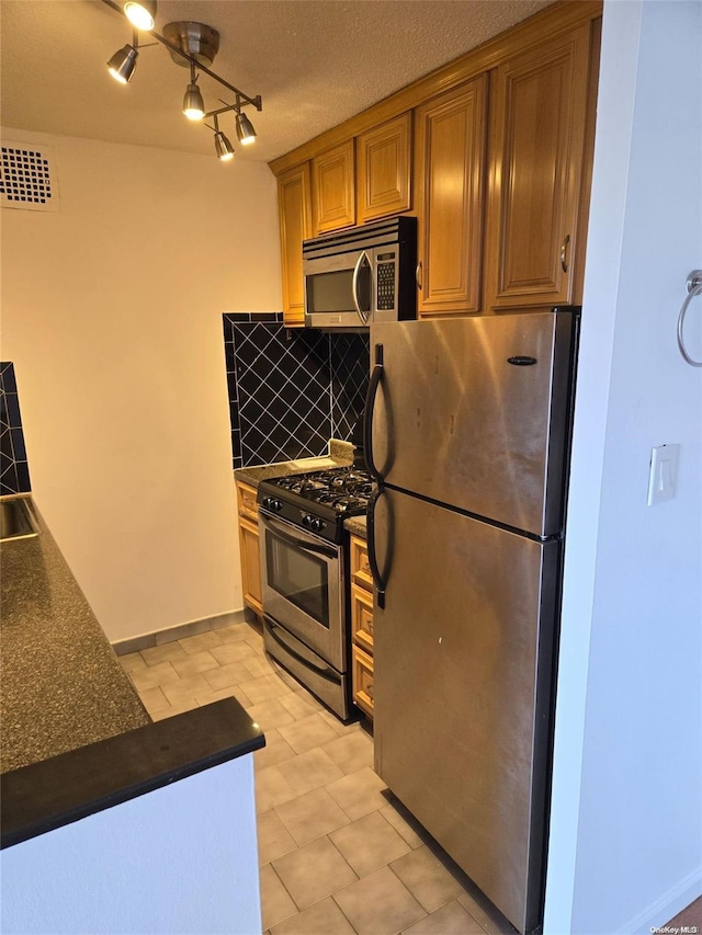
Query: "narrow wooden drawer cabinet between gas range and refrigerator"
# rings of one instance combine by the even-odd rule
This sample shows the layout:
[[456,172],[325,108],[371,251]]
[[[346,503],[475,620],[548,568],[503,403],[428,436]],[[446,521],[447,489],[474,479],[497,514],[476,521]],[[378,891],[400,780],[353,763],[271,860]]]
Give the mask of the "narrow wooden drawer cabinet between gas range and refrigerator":
[[373,579],[367,545],[351,536],[351,639],[353,700],[373,717]]

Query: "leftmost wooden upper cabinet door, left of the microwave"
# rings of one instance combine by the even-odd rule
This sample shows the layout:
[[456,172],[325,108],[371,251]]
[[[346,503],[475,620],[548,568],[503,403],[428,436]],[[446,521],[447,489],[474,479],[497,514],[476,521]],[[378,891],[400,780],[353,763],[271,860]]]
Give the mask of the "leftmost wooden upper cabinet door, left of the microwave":
[[312,236],[309,163],[297,166],[278,180],[285,324],[305,322],[303,240]]

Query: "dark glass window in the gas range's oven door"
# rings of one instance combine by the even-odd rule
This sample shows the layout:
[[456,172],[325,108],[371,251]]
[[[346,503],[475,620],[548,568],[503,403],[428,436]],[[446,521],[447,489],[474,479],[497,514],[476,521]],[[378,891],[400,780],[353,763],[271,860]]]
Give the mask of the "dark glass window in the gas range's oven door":
[[265,534],[268,585],[329,629],[329,563],[324,558]]

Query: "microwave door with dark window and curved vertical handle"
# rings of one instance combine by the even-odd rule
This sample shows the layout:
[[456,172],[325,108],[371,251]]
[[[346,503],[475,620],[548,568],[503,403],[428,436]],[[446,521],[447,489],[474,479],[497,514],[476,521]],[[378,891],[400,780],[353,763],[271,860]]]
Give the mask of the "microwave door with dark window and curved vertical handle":
[[353,250],[303,261],[305,324],[367,327],[373,303],[373,251]]

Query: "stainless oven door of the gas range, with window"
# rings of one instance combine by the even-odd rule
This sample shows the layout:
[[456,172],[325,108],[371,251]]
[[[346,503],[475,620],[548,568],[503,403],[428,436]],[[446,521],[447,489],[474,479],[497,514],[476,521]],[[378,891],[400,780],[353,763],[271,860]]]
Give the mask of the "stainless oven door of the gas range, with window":
[[346,671],[341,547],[259,512],[263,611]]

